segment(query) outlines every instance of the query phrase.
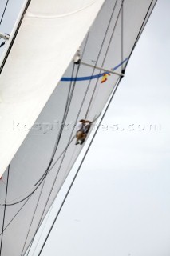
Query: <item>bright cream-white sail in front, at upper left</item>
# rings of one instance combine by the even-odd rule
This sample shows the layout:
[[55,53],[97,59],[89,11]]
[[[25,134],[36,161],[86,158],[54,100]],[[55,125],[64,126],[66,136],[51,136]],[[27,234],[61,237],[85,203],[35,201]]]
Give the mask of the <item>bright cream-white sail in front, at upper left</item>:
[[30,2],[0,77],[0,174],[29,131],[15,122],[33,126],[103,2]]

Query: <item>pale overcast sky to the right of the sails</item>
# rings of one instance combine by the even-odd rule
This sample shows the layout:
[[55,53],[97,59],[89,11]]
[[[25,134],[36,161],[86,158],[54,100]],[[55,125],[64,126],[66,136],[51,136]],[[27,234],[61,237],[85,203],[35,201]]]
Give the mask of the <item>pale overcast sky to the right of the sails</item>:
[[157,2],[42,256],[169,256],[169,10]]

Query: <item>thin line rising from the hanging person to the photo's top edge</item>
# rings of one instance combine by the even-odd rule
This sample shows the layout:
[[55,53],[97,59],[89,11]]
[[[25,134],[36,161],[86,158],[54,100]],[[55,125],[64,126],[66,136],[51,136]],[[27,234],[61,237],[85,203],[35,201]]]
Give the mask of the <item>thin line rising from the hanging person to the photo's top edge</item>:
[[[121,8],[122,8],[122,6],[123,6],[123,3],[124,3],[124,0],[122,0],[122,2],[121,2]],[[114,8],[115,8],[115,7],[116,7],[116,6],[114,6]],[[118,12],[117,20],[116,20],[116,22],[115,22],[115,24],[114,24],[113,31],[112,31],[112,34],[111,34],[111,36],[110,36],[109,44],[108,44],[108,46],[107,46],[107,49],[106,49],[106,52],[105,52],[105,57],[104,57],[104,59],[103,59],[103,61],[102,61],[101,67],[104,66],[105,59],[106,59],[106,57],[107,57],[107,55],[108,55],[109,47],[110,47],[110,44],[111,44],[111,42],[112,42],[112,40],[113,40],[113,35],[114,35],[115,30],[116,30],[117,22],[118,22],[118,19],[119,19],[119,17],[120,17],[120,14],[121,14],[121,8],[120,8],[120,10],[119,10],[119,12]],[[101,74],[101,71],[100,71],[100,74]],[[96,83],[95,83],[95,86],[94,86],[94,89],[93,89],[93,94],[92,94],[92,96],[91,96],[91,98],[90,98],[89,106],[88,106],[88,109],[87,109],[87,111],[86,111],[85,118],[87,118],[87,116],[88,116],[88,114],[89,114],[89,109],[90,109],[90,106],[91,106],[91,104],[92,104],[94,94],[95,94],[95,92],[96,92],[96,90],[97,90],[97,82],[98,82],[98,81],[99,81],[99,78],[97,78],[97,81],[96,81]]]

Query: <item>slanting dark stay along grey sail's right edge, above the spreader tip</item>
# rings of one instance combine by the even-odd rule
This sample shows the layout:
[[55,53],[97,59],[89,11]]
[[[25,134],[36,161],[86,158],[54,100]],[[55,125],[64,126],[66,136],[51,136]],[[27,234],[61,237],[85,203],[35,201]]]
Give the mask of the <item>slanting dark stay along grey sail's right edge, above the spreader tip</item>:
[[[154,9],[154,6],[156,6],[157,0],[155,1],[154,5],[152,6],[152,3],[153,3],[154,1],[155,1],[155,0],[152,0],[152,1],[150,2],[150,5],[148,6],[148,11],[147,11],[146,15],[144,16],[144,21],[142,22],[142,25],[140,26],[140,30],[139,30],[139,33],[137,34],[136,41],[134,42],[134,44],[133,44],[133,46],[132,46],[132,50],[131,50],[130,54],[128,55],[128,61],[129,61],[129,58],[131,57],[132,52],[133,52],[133,50],[134,50],[134,48],[135,48],[135,46],[136,46],[136,44],[137,44],[137,42],[138,42],[138,40],[139,40],[139,38],[140,38],[140,35],[141,35],[142,31],[144,30],[144,26],[146,26],[146,23],[147,23],[147,21],[148,21],[148,18],[149,18],[150,15],[152,14],[152,10]],[[152,7],[152,10],[150,11],[151,7]],[[150,11],[150,14],[149,14],[149,11]],[[145,23],[145,24],[144,24],[144,23]],[[125,63],[125,68],[126,68],[126,66],[128,65],[128,61]]]

